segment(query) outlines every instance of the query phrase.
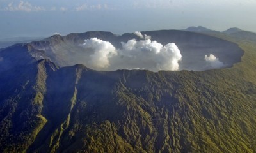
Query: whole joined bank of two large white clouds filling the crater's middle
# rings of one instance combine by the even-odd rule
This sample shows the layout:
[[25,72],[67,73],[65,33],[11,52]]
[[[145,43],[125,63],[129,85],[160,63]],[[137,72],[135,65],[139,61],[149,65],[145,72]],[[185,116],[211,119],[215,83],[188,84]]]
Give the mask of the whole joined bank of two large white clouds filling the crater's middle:
[[162,45],[157,41],[129,40],[122,43],[122,49],[116,48],[108,41],[97,38],[84,40],[83,47],[93,51],[86,65],[97,70],[148,69],[179,70],[182,55],[175,43]]

